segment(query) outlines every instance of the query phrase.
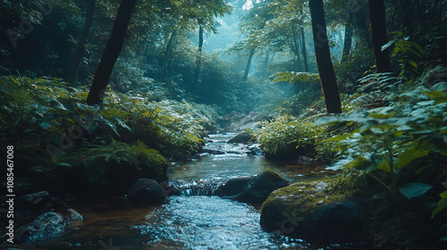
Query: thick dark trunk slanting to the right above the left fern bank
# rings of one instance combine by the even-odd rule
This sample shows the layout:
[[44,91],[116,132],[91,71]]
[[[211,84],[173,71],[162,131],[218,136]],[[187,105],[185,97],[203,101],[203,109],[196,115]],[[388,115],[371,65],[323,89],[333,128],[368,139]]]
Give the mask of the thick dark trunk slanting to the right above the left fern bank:
[[93,76],[89,96],[87,96],[87,104],[102,104],[105,87],[107,87],[110,75],[114,70],[114,64],[121,54],[124,45],[124,37],[126,37],[129,22],[131,21],[132,12],[138,0],[122,0],[116,13],[114,28],[110,34],[107,45],[101,61],[97,66],[97,71]]

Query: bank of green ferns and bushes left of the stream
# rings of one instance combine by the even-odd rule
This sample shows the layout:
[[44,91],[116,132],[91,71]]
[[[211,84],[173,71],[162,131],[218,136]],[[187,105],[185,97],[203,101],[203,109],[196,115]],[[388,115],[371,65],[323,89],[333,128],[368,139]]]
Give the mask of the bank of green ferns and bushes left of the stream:
[[[217,118],[205,104],[155,102],[151,93],[136,91],[124,95],[108,89],[101,108],[89,106],[83,104],[86,91],[59,79],[9,76],[0,78],[0,87],[1,144],[13,143],[42,164],[86,166],[92,182],[107,181],[107,163],[131,164],[161,176],[165,160],[158,151],[171,157],[197,152],[205,128],[215,126]],[[72,139],[63,146],[63,137]],[[60,152],[53,155],[48,145]]]

